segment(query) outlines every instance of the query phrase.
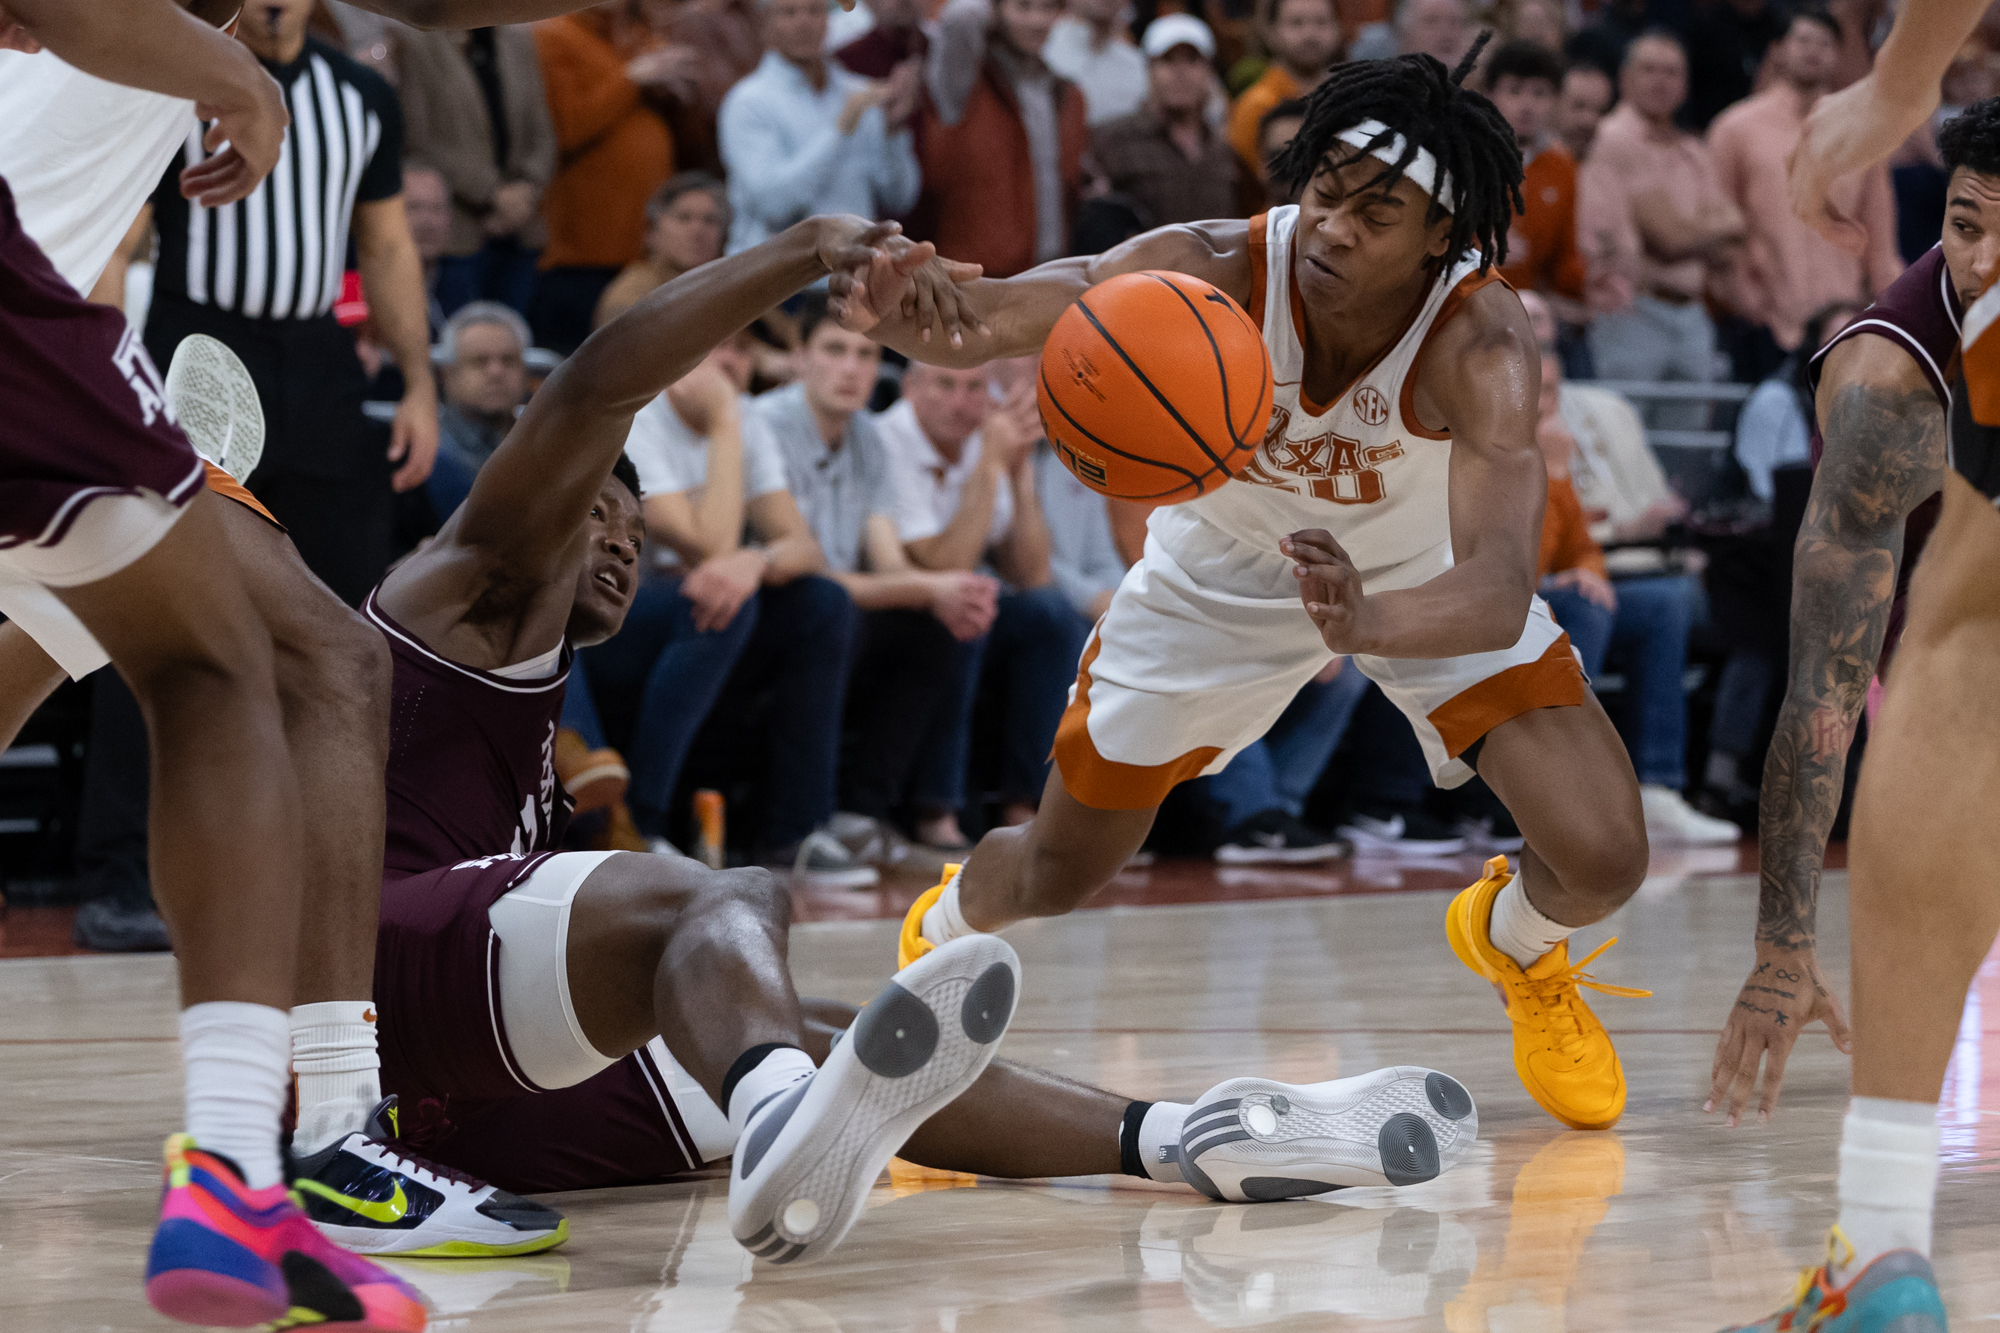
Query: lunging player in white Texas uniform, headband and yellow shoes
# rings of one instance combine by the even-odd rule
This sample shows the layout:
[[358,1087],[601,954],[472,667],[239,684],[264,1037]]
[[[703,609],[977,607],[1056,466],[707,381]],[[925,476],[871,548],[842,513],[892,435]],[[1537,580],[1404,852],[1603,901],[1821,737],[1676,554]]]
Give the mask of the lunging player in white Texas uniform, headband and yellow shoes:
[[[1564,941],[1638,889],[1646,827],[1624,745],[1534,594],[1540,358],[1492,272],[1522,164],[1494,106],[1458,86],[1470,60],[1336,68],[1274,166],[1304,186],[1298,206],[974,280],[984,336],[926,342],[902,312],[920,290],[834,278],[850,326],[976,364],[1038,350],[1094,282],[1186,272],[1262,324],[1278,380],[1244,474],[1154,510],[1084,650],[1040,813],[988,833],[918,899],[902,953],[1074,909],[1138,851],[1174,783],[1222,769],[1330,654],[1350,654],[1410,719],[1432,777],[1480,773],[1526,835],[1522,875],[1488,863],[1448,935],[1506,997],[1534,1099],[1602,1129],[1624,1109],[1624,1071]],[[918,286],[954,278],[934,264]]]

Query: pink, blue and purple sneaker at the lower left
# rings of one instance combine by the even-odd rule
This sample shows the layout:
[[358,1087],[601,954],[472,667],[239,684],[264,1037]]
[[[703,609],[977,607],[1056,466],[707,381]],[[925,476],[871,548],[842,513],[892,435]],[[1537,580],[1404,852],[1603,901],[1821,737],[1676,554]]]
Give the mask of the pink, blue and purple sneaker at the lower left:
[[284,1185],[248,1189],[228,1157],[188,1135],[166,1141],[160,1229],[146,1301],[170,1319],[244,1329],[340,1323],[350,1333],[422,1333],[428,1317],[396,1275],[322,1237]]

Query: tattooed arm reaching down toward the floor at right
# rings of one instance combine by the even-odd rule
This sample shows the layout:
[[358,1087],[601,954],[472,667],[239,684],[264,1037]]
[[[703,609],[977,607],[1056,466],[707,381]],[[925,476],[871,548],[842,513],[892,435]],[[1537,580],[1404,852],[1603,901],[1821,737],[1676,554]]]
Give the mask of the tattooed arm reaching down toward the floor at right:
[[1764,1063],[1770,1119],[1800,1029],[1824,1021],[1848,1051],[1840,1001],[1814,953],[1820,865],[1840,809],[1848,745],[1882,656],[1902,524],[1944,484],[1944,408],[1906,350],[1872,334],[1826,356],[1818,394],[1826,454],[1798,530],[1792,664],[1758,805],[1756,963],[1716,1043],[1704,1111],[1738,1121]]

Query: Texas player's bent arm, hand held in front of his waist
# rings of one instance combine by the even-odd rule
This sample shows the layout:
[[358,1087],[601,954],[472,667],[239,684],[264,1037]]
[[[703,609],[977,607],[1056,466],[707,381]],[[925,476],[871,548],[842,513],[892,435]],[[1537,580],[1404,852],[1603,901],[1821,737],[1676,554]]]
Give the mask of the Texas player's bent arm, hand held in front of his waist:
[[1326,532],[1294,532],[1306,614],[1334,652],[1462,656],[1512,648],[1528,622],[1548,504],[1534,440],[1542,358],[1520,298],[1476,292],[1424,352],[1418,418],[1452,436],[1454,566],[1430,582],[1362,596],[1360,574]]

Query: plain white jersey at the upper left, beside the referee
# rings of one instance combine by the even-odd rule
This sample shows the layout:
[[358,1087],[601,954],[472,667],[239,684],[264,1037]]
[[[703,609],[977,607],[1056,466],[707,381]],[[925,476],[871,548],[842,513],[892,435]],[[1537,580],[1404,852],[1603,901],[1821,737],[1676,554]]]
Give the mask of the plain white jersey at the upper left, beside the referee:
[[194,102],[106,82],[54,52],[0,52],[0,176],[22,230],[82,294],[194,124]]

